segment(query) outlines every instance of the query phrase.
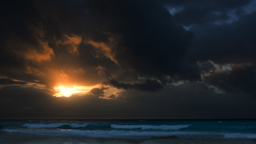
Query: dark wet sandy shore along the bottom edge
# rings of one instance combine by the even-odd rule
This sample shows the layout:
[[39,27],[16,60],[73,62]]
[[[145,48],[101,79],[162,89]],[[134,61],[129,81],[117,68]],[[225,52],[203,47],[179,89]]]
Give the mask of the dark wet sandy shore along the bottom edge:
[[87,139],[84,137],[52,137],[41,136],[36,134],[23,133],[0,133],[1,144],[27,143],[27,144],[41,144],[41,143],[187,143],[187,144],[255,144],[254,139],[173,139],[173,138],[159,138],[159,139]]

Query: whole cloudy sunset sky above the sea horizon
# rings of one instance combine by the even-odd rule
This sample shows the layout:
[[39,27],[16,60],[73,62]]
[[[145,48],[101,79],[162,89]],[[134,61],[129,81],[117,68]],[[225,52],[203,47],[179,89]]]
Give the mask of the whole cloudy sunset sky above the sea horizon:
[[256,1],[2,1],[0,119],[256,118]]

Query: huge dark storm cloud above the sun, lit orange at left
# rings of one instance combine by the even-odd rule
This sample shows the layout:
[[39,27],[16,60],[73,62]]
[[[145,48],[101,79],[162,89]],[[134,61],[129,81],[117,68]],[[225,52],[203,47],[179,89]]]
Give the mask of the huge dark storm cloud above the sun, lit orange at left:
[[[26,1],[22,2],[23,8],[19,4],[10,1],[2,6],[2,14],[8,13],[2,25],[2,37],[8,36],[2,41],[2,55],[14,54],[5,59],[10,68],[2,69],[3,76],[22,77],[29,82],[39,79],[43,84],[53,85],[46,77],[46,67],[58,65],[64,73],[75,67],[95,74],[101,65],[123,82],[126,77],[133,82],[138,77],[154,78],[164,84],[200,78],[198,69],[184,58],[192,33],[175,22],[157,1]],[[69,38],[81,38],[81,42],[75,47]],[[97,44],[105,44],[107,58],[93,49]],[[76,53],[79,55],[72,55]],[[123,70],[126,74],[121,76],[118,71]],[[100,81],[94,78],[88,76],[85,80]]]

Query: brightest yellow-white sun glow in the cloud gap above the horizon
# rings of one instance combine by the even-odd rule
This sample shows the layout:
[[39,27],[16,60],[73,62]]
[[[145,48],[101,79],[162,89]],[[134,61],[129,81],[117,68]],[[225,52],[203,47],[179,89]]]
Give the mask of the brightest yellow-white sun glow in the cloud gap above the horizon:
[[53,89],[55,90],[54,97],[70,97],[73,94],[76,95],[84,95],[91,91],[91,89],[98,87],[96,86],[73,86],[73,88],[68,88],[64,86],[55,86]]

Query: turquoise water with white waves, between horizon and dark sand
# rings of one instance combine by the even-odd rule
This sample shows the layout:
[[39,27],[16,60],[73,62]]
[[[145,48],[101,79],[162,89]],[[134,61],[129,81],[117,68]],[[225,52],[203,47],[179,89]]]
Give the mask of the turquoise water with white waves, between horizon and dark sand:
[[2,133],[90,139],[256,139],[255,120],[0,121]]

